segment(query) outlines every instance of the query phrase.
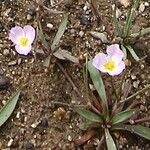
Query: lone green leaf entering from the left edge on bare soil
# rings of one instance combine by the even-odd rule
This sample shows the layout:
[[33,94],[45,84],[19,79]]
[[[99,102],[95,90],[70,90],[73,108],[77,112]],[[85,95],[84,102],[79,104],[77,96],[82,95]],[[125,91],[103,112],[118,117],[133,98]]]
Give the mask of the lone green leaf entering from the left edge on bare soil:
[[2,126],[10,117],[15,109],[17,101],[19,99],[20,91],[16,92],[0,110],[0,126]]

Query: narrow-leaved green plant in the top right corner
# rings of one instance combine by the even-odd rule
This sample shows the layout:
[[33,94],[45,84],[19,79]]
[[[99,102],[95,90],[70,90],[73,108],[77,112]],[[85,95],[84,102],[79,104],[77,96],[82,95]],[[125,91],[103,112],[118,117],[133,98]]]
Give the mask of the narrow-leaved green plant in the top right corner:
[[146,29],[142,29],[137,33],[131,32],[131,29],[133,27],[133,21],[135,20],[135,16],[136,16],[136,9],[138,8],[138,5],[139,5],[139,0],[133,1],[132,8],[130,8],[127,12],[124,26],[120,25],[116,17],[116,11],[117,11],[116,5],[113,10],[113,25],[115,28],[115,34],[117,36],[117,39],[119,40],[119,43],[121,44],[121,48],[122,50],[124,50],[125,53],[127,53],[126,51],[129,51],[132,57],[136,61],[139,61],[140,58],[137,56],[137,54],[135,53],[131,45],[134,44],[137,41],[137,39],[139,39],[141,36],[144,36],[150,33],[150,27]]

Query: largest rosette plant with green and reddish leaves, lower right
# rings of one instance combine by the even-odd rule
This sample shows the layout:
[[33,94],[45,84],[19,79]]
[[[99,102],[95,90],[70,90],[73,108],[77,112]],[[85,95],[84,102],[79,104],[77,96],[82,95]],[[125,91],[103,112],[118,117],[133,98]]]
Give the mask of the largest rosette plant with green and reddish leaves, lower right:
[[[112,131],[115,130],[127,130],[150,140],[150,128],[135,124],[131,125],[129,122],[129,120],[132,120],[132,117],[138,115],[140,111],[138,108],[131,107],[133,106],[134,101],[129,107],[124,107],[127,101],[131,101],[134,96],[150,88],[150,85],[129,97],[127,97],[127,91],[124,90],[124,94],[122,96],[123,100],[116,101],[114,103],[114,106],[112,108],[109,108],[105,86],[101,74],[92,65],[92,61],[88,61],[87,63],[87,69],[100,99],[97,99],[92,94],[92,92],[90,92],[90,105],[88,105],[87,107],[75,106],[74,111],[86,119],[85,126],[91,129],[90,132],[85,134],[86,136],[83,136],[83,138],[77,140],[76,143],[78,145],[84,144],[84,142],[95,135],[99,131],[99,129],[103,131],[103,134],[106,137],[105,139],[108,150],[117,149],[115,142],[111,136]],[[133,123],[136,123],[136,120],[133,120]]]

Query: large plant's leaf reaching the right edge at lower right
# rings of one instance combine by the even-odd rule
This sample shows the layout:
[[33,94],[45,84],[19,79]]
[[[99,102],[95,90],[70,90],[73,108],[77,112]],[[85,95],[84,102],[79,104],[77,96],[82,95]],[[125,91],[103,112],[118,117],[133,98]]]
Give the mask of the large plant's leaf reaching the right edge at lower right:
[[150,128],[143,127],[141,125],[114,125],[111,128],[112,130],[127,130],[131,133],[137,134],[147,140],[150,140]]

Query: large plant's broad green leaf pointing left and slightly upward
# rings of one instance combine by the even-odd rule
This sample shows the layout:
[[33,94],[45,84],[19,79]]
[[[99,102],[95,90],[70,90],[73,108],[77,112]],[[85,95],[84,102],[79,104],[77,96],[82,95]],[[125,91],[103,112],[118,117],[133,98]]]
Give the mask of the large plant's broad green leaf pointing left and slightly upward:
[[84,117],[87,120],[90,120],[92,122],[99,122],[99,123],[103,122],[103,120],[100,116],[98,116],[95,113],[85,109],[84,107],[76,106],[74,108],[74,111],[76,111],[80,116],[82,116],[82,117]]

